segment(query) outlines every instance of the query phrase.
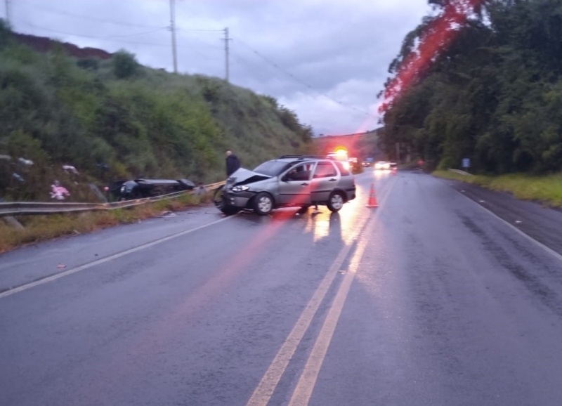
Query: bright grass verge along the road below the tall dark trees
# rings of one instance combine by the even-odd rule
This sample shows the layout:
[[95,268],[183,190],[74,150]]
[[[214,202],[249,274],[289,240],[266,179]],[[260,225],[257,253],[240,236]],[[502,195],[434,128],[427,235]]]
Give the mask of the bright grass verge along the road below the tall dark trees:
[[502,176],[465,176],[450,171],[434,171],[433,175],[481,185],[490,190],[510,192],[518,199],[536,200],[551,207],[562,207],[562,173],[548,176],[530,176],[522,173]]

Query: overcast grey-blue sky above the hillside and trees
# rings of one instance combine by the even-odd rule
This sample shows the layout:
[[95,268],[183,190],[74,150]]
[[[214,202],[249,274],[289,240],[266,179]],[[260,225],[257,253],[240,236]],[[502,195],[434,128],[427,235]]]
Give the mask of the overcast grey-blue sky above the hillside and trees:
[[[9,0],[16,32],[134,53],[174,70],[169,0]],[[178,72],[277,98],[316,135],[379,126],[377,93],[427,0],[175,0]]]

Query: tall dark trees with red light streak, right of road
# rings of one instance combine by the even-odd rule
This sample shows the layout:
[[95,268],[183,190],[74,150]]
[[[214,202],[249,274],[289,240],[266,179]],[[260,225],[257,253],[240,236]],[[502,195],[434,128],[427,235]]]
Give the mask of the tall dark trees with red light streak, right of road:
[[443,169],[466,157],[481,173],[560,171],[562,0],[429,3],[389,70],[386,150]]

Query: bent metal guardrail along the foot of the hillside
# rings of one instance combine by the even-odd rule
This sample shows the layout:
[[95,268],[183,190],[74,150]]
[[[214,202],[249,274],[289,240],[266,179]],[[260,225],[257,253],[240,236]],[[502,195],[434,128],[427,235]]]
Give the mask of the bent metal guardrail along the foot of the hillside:
[[[204,185],[206,190],[215,190],[225,184],[225,181]],[[67,202],[4,202],[0,203],[1,216],[24,216],[31,214],[60,214],[74,211],[115,210],[141,204],[158,202],[159,200],[175,199],[185,195],[195,194],[195,190],[169,193],[143,199],[124,200],[112,203],[67,203]]]

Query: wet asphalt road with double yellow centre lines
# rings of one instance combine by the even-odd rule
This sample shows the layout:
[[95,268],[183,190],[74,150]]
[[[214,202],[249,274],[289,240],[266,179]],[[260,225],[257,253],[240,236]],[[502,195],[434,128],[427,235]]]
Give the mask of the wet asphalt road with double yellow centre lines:
[[560,405],[562,214],[357,183],[339,214],[202,207],[0,256],[0,404]]

